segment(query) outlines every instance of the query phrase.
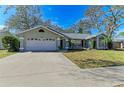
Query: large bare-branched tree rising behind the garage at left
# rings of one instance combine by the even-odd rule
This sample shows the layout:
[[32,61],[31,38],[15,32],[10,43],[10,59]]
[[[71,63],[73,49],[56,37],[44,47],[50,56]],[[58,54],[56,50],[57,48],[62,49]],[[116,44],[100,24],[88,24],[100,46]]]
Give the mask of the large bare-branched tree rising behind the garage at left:
[[8,29],[23,31],[43,23],[40,6],[7,6],[4,14],[10,9],[15,9],[15,13],[6,21]]

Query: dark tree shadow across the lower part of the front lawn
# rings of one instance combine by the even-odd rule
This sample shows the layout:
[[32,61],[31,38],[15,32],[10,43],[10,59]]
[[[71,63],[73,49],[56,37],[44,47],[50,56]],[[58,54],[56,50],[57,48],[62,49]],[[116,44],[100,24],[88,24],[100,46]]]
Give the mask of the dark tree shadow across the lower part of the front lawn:
[[96,59],[85,59],[85,60],[74,60],[80,68],[97,68],[97,67],[110,67],[110,66],[121,66],[124,62],[110,61],[110,60],[96,60]]

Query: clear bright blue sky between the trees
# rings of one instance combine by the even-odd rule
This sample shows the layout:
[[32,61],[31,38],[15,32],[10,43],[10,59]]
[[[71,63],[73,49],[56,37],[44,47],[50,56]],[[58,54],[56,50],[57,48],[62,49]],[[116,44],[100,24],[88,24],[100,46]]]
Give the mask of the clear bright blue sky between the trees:
[[[5,6],[0,8],[0,26],[5,24],[5,21],[14,13],[14,10],[9,11],[7,15],[2,12]],[[44,20],[51,19],[54,24],[58,24],[63,28],[68,28],[76,23],[79,19],[83,18],[84,12],[88,6],[79,5],[47,5],[41,6],[42,17]]]

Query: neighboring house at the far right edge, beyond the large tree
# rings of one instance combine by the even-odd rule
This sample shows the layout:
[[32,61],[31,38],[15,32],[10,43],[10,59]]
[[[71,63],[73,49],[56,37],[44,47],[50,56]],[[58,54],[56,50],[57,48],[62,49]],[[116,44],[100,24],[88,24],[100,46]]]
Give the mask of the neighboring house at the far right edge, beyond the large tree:
[[124,36],[118,35],[113,39],[113,48],[124,48]]

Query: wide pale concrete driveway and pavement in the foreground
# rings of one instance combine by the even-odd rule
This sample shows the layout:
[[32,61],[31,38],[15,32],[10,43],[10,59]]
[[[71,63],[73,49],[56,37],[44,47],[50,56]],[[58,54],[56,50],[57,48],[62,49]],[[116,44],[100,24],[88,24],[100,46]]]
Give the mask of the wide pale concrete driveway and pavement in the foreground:
[[18,53],[0,59],[0,86],[115,86],[124,66],[80,69],[62,53]]

